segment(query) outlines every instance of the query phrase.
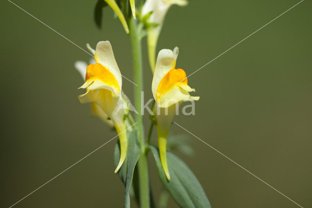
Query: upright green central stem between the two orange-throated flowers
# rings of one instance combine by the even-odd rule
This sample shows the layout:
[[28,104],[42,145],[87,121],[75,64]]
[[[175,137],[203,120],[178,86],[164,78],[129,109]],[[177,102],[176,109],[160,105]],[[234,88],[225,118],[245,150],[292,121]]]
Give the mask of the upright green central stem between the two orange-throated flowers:
[[142,51],[140,34],[137,31],[137,22],[130,18],[130,38],[132,45],[133,67],[134,67],[134,82],[135,86],[135,108],[138,112],[136,114],[138,137],[140,141],[141,154],[138,160],[138,177],[139,177],[139,191],[140,191],[140,207],[150,207],[150,190],[149,190],[149,175],[147,154],[145,153],[144,142],[144,128],[143,117],[141,115],[141,91],[143,91],[143,70],[142,70]]

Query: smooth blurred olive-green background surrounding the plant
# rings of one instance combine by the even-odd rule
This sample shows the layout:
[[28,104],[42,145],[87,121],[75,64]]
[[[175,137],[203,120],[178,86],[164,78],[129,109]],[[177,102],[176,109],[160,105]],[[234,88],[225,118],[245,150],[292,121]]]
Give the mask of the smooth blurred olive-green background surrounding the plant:
[[[14,0],[86,49],[109,40],[122,74],[133,80],[129,36],[96,0]],[[177,67],[197,68],[273,20],[296,0],[193,0],[166,16],[158,50],[179,47]],[[116,133],[91,116],[77,96],[74,68],[90,56],[9,1],[1,1],[0,207],[9,207]],[[195,116],[175,121],[303,207],[312,207],[312,2],[305,0],[189,77],[200,96]],[[143,40],[145,99],[152,74]],[[133,100],[134,85],[123,81]],[[147,114],[147,113],[146,113]],[[149,125],[145,115],[146,131]],[[177,125],[172,132],[187,134]],[[155,132],[154,132],[155,133]],[[156,142],[156,134],[153,137]],[[124,187],[114,174],[117,140],[73,166],[15,207],[122,207]],[[295,208],[289,199],[190,135],[193,170],[213,208]],[[150,158],[156,201],[161,183]],[[135,205],[135,203],[133,203]],[[135,207],[135,206],[134,206]],[[169,208],[177,207],[169,200]]]

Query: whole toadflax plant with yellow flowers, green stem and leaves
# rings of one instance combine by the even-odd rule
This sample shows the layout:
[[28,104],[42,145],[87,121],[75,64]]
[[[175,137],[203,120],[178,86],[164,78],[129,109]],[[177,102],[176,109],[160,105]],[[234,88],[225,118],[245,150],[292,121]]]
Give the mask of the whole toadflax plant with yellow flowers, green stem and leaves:
[[[183,208],[210,208],[205,191],[189,167],[172,152],[167,151],[167,138],[179,105],[184,101],[199,100],[190,92],[195,89],[188,85],[183,69],[176,69],[178,48],[162,49],[156,57],[156,43],[165,15],[170,6],[186,5],[186,0],[146,0],[136,9],[135,0],[98,0],[95,21],[101,26],[103,7],[110,6],[130,35],[134,68],[134,106],[122,91],[122,74],[117,65],[109,41],[99,41],[95,49],[87,44],[94,56],[89,64],[78,61],[75,67],[82,75],[85,89],[79,95],[80,103],[89,103],[91,111],[106,125],[114,126],[119,141],[115,146],[115,173],[125,185],[124,207],[130,208],[130,191],[141,208],[156,207],[150,187],[148,160],[153,155],[159,179],[168,193]],[[143,68],[141,39],[147,36],[147,51],[153,75],[151,83],[153,104],[149,109],[151,125],[145,138],[141,92],[143,92]],[[155,61],[156,60],[156,61]],[[193,106],[193,105],[192,105]],[[130,111],[134,111],[134,117]],[[182,110],[183,111],[183,110]],[[157,129],[158,147],[150,144],[154,126]],[[174,137],[179,140],[179,137]],[[176,141],[176,144],[179,141]],[[182,149],[182,148],[181,148]],[[164,194],[161,194],[163,196]],[[160,199],[158,206],[165,207]]]

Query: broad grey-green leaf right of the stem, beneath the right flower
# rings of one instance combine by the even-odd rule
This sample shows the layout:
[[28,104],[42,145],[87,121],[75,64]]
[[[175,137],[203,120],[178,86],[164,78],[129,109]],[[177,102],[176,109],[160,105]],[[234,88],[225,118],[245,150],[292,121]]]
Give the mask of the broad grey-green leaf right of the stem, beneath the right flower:
[[160,181],[172,198],[182,208],[211,208],[204,189],[190,168],[176,155],[167,152],[168,168],[171,180],[168,182],[162,169],[159,151],[155,146],[148,146],[156,161]]

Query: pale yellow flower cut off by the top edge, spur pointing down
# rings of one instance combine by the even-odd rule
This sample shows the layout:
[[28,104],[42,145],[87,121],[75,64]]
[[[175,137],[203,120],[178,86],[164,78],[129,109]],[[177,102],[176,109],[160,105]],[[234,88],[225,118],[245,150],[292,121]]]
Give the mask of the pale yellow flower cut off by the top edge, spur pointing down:
[[171,5],[177,4],[179,6],[185,6],[188,4],[187,0],[146,0],[142,8],[142,17],[153,12],[149,18],[150,23],[158,24],[156,27],[147,28],[147,45],[149,62],[154,72],[155,69],[155,53],[158,36],[165,19],[166,13]]

